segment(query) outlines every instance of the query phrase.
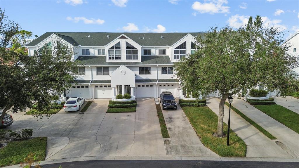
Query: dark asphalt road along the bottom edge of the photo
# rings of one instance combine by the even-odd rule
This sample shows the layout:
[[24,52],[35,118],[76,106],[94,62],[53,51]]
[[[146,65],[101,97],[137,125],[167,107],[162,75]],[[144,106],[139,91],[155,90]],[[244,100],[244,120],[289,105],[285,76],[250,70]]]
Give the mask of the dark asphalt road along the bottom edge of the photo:
[[250,162],[250,161],[77,161],[42,165],[43,168],[288,168],[299,167],[299,162]]

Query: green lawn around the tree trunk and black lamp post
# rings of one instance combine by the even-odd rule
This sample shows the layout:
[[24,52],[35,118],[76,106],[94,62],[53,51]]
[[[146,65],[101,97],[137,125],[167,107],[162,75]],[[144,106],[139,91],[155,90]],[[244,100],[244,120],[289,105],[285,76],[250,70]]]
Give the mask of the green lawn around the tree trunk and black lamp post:
[[[193,128],[199,136],[202,144],[222,157],[245,157],[247,146],[245,142],[232,130],[229,134],[229,146],[226,146],[227,138],[217,138],[213,133],[217,131],[218,116],[209,107],[181,107],[190,120]],[[224,134],[227,134],[228,126],[223,123]]]

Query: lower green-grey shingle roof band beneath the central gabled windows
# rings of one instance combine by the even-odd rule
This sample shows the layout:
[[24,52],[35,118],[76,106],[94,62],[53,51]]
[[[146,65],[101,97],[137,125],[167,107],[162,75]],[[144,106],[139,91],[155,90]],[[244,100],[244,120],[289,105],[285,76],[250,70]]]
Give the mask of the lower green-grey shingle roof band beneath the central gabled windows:
[[77,58],[80,65],[149,65],[149,64],[169,64],[169,56],[141,56],[141,62],[106,62],[106,56],[79,56]]

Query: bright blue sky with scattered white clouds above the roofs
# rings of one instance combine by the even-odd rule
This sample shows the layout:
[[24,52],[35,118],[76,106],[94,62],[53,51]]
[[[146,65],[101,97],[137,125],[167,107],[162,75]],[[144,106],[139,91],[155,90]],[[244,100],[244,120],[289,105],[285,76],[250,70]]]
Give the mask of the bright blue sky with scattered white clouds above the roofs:
[[265,25],[299,31],[299,1],[278,0],[0,0],[5,14],[40,36],[45,32],[204,32],[245,24],[260,15]]

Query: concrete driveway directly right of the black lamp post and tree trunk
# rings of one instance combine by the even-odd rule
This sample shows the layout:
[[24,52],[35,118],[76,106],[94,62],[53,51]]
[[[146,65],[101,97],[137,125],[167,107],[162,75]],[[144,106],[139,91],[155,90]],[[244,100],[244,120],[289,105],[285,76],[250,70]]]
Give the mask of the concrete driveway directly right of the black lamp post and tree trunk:
[[[234,105],[235,104],[236,103],[234,102]],[[219,100],[217,98],[208,98],[207,105],[218,115]],[[228,112],[229,107],[225,105],[223,119],[225,123],[228,123]],[[230,127],[246,143],[246,157],[293,158],[288,152],[278,146],[273,140],[266,137],[266,135],[248,123],[233,110],[231,110]]]

